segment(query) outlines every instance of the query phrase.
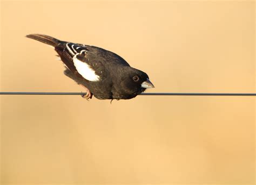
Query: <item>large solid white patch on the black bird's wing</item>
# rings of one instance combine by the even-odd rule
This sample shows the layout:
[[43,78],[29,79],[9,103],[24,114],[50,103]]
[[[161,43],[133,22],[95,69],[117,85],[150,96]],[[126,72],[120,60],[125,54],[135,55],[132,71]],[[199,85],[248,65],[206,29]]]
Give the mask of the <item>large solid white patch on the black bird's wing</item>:
[[87,65],[87,63],[78,60],[77,54],[75,54],[75,56],[73,57],[73,62],[77,69],[77,72],[80,75],[82,75],[86,80],[93,82],[99,81],[100,78],[98,75],[95,74],[95,70],[93,70],[89,65]]

